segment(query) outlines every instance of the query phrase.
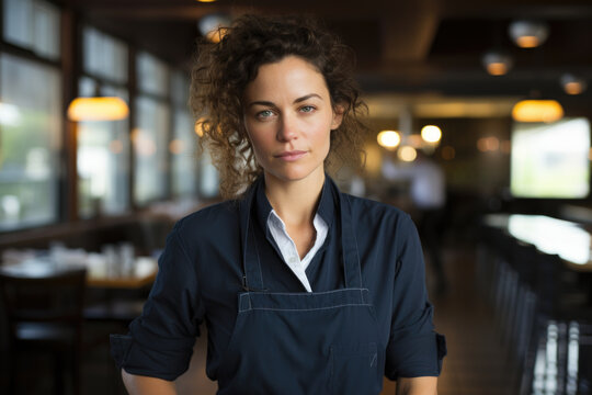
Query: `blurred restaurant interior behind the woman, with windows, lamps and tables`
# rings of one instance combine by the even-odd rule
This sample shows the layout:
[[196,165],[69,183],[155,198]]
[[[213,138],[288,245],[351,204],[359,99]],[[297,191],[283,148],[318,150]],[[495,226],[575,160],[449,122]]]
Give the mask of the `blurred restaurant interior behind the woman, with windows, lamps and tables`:
[[[109,335],[174,223],[221,200],[195,43],[255,13],[317,18],[356,54],[365,169],[333,178],[418,225],[439,393],[592,394],[590,0],[0,4],[0,393],[126,393]],[[180,394],[216,392],[202,332]]]

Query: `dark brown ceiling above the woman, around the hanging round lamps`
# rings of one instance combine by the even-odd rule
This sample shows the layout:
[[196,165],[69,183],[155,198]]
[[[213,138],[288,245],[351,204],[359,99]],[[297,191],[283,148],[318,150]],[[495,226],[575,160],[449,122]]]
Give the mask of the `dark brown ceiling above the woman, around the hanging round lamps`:
[[[492,114],[498,114],[509,111],[517,98],[527,95],[556,98],[568,113],[590,113],[590,0],[61,2],[80,11],[84,20],[98,27],[180,67],[190,65],[198,36],[196,21],[208,13],[316,15],[355,49],[358,80],[371,101],[383,104],[380,116],[390,116],[389,111],[396,113],[401,103],[408,102],[429,102],[434,104],[432,112],[428,112],[431,116],[445,115],[449,109],[435,104],[449,101],[469,105],[463,111],[470,115],[470,104],[483,100],[496,104]],[[508,25],[517,19],[547,22],[547,42],[533,49],[516,47],[509,38]],[[505,76],[489,76],[482,67],[483,53],[494,47],[504,48],[514,58],[514,66]],[[580,95],[563,93],[559,79],[565,72],[585,78],[590,89]]]

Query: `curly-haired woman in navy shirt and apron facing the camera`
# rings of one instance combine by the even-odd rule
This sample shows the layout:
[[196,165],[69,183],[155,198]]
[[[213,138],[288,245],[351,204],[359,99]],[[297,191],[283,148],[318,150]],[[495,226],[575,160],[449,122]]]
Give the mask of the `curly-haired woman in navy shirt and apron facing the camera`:
[[175,225],[143,315],[112,337],[130,393],[174,393],[205,320],[219,394],[378,394],[384,375],[435,394],[445,346],[417,232],[325,172],[360,158],[349,55],[310,22],[261,16],[200,48],[191,104],[237,199]]

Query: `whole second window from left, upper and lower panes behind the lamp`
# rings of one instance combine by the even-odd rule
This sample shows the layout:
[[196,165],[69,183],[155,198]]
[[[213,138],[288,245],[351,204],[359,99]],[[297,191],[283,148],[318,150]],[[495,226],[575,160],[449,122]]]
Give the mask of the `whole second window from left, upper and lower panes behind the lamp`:
[[[82,33],[84,77],[79,94],[116,95],[128,102],[127,46],[93,29]],[[79,122],[77,133],[78,213],[123,214],[128,208],[129,121]]]

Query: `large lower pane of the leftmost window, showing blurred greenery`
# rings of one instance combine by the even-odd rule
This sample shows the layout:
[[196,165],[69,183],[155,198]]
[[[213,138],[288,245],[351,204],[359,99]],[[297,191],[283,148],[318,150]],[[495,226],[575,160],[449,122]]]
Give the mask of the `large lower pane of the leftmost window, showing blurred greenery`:
[[59,70],[0,56],[2,230],[58,219],[60,98]]

